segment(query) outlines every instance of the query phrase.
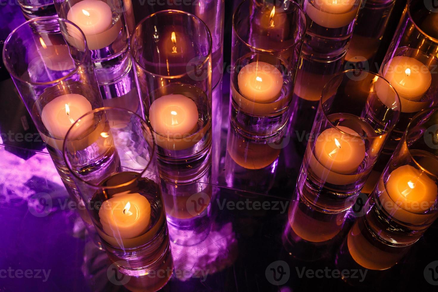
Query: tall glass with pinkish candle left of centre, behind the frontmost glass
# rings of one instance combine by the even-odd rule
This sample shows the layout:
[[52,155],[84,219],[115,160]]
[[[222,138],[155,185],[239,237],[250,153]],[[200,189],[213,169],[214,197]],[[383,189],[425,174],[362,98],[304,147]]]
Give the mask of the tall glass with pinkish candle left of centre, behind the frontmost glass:
[[138,24],[130,51],[161,175],[193,181],[208,167],[212,145],[210,32],[192,14],[160,11]]

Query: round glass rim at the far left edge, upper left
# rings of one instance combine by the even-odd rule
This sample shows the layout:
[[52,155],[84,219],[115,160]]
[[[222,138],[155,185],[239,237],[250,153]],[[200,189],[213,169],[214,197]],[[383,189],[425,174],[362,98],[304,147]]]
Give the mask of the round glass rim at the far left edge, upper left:
[[[69,77],[73,76],[74,74],[76,74],[79,70],[79,65],[77,65],[75,62],[74,63],[74,68],[65,76],[52,80],[52,81],[46,81],[46,82],[30,82],[30,81],[25,81],[24,79],[22,79],[21,77],[17,76],[16,74],[12,73],[12,70],[9,66],[9,63],[6,62],[6,46],[8,44],[8,42],[11,40],[12,36],[15,35],[18,30],[20,30],[21,28],[23,28],[26,25],[29,25],[31,22],[37,22],[37,21],[49,21],[49,20],[57,20],[58,23],[60,21],[64,22],[64,23],[68,23],[70,25],[72,25],[74,28],[76,28],[78,30],[78,32],[81,34],[81,36],[83,37],[83,43],[84,43],[84,54],[79,62],[79,64],[83,64],[85,61],[85,58],[87,56],[87,53],[89,52],[88,50],[88,44],[87,44],[87,39],[84,35],[84,32],[82,32],[82,30],[75,25],[73,22],[64,19],[64,18],[60,18],[57,16],[40,16],[40,17],[36,17],[36,18],[32,18],[29,19],[28,21],[23,22],[21,25],[18,25],[18,27],[14,28],[14,30],[7,36],[7,38],[4,41],[4,46],[3,46],[3,52],[2,52],[2,57],[3,57],[3,63],[4,63],[4,67],[6,67],[6,70],[9,72],[9,74],[11,74],[11,77],[13,77],[14,79],[17,79],[20,82],[26,83],[26,84],[33,84],[33,85],[50,85],[50,84],[56,84],[59,83],[60,81],[64,81],[65,79],[68,79]],[[61,33],[61,31],[60,31]]]

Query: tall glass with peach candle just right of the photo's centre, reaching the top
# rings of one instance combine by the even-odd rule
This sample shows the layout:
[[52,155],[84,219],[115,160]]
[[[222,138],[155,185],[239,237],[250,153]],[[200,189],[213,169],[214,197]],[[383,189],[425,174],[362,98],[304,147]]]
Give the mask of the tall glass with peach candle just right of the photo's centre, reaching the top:
[[268,139],[286,127],[305,30],[293,1],[245,0],[234,12],[230,120],[246,136]]

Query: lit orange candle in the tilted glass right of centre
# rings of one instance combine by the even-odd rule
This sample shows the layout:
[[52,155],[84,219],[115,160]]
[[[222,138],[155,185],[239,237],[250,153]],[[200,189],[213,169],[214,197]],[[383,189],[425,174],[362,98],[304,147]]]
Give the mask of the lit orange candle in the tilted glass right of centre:
[[324,130],[315,142],[315,156],[325,168],[333,172],[353,173],[364,161],[364,141],[348,127],[337,128],[345,134],[336,128]]

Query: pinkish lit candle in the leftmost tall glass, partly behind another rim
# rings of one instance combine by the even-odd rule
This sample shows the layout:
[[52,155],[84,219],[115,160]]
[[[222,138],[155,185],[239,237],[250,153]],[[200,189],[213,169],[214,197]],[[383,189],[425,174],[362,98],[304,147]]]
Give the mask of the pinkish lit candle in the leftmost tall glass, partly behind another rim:
[[[64,139],[71,125],[91,110],[91,103],[83,95],[60,95],[44,106],[41,120],[54,138]],[[81,129],[86,129],[91,126],[92,117],[78,123]]]

